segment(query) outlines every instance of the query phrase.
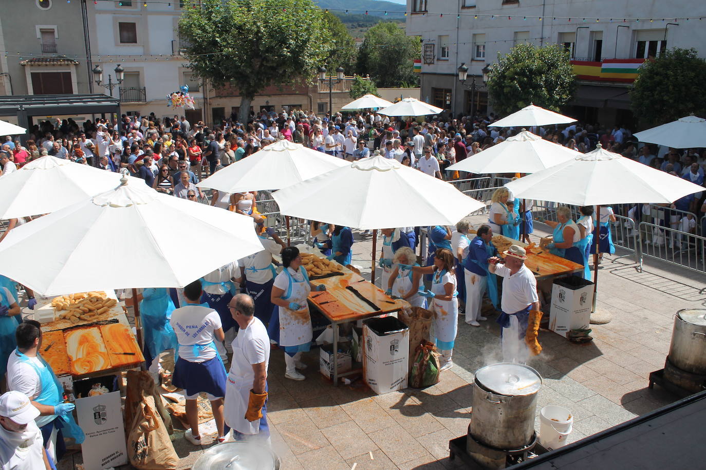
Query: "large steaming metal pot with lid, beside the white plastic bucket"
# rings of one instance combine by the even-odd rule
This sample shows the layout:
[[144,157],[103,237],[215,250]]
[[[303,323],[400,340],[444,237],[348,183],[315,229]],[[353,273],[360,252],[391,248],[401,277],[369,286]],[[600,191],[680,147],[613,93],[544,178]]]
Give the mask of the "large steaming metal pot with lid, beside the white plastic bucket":
[[472,437],[501,450],[530,445],[541,387],[537,370],[524,364],[502,362],[479,368],[469,427]]

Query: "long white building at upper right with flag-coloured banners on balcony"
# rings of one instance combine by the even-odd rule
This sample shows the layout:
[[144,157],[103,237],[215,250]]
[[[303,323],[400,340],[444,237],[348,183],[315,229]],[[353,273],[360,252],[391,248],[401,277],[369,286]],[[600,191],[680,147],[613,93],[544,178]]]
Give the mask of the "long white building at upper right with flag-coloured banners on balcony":
[[[423,41],[421,99],[455,114],[486,109],[482,70],[498,54],[519,42],[558,43],[576,61],[599,63],[575,64],[580,85],[573,115],[629,122],[630,80],[600,76],[601,66],[610,63],[606,59],[645,59],[672,47],[693,47],[706,56],[706,1],[407,0],[407,35]],[[457,78],[462,63],[469,68],[465,84]],[[595,76],[582,76],[587,68],[597,70],[590,74]]]

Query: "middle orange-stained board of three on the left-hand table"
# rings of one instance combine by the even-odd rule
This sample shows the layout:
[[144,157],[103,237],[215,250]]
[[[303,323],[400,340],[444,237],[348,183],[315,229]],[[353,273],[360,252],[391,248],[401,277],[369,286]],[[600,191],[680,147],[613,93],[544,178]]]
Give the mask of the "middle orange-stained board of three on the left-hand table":
[[110,368],[108,350],[98,327],[69,330],[64,333],[64,340],[73,375],[85,375]]

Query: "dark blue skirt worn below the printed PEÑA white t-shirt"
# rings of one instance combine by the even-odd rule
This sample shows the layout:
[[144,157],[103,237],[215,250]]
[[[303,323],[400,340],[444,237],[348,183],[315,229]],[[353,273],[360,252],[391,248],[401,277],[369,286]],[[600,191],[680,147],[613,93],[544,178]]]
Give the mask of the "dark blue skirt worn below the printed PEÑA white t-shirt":
[[203,362],[179,358],[174,366],[172,384],[186,390],[187,395],[206,392],[214,397],[225,397],[226,373],[220,357]]

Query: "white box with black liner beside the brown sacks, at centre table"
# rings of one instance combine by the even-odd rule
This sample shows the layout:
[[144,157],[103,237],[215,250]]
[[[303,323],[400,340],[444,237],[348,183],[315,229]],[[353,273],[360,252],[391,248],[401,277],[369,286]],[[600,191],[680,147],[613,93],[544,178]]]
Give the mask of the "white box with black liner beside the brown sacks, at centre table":
[[395,317],[363,322],[364,378],[377,394],[407,388],[409,327]]

